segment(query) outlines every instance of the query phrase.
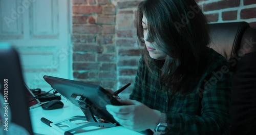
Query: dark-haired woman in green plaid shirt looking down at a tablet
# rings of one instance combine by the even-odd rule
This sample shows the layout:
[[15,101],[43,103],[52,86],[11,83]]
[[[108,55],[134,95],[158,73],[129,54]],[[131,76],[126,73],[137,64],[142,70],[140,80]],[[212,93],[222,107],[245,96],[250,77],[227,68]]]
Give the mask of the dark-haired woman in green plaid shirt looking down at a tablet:
[[226,59],[206,47],[207,20],[194,0],[146,0],[137,14],[145,45],[130,100],[106,105],[122,126],[166,134],[228,134]]

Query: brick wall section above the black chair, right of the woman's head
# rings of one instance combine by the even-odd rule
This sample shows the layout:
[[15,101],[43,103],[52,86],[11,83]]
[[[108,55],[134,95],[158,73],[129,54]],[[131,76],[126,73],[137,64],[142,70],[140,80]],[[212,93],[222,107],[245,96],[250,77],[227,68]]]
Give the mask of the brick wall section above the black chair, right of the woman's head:
[[256,27],[255,0],[197,0],[212,23],[246,21]]

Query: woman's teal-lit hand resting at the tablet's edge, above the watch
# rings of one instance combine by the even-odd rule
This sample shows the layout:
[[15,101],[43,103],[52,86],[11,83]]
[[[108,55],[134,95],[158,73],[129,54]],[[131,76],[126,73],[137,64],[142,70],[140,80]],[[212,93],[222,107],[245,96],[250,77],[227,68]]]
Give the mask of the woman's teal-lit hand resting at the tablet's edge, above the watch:
[[122,106],[106,105],[106,110],[122,126],[132,130],[154,129],[160,120],[161,112],[151,109],[136,100],[118,100]]

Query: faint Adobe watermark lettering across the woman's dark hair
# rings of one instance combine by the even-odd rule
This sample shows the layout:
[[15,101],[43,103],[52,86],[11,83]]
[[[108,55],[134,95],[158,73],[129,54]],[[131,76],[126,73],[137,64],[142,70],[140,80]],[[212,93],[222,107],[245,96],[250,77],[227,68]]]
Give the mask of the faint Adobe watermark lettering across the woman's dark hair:
[[180,28],[184,28],[185,25],[187,25],[189,23],[189,20],[193,19],[196,16],[196,14],[198,14],[201,11],[201,9],[198,5],[195,5],[195,6],[190,5],[189,7],[191,8],[191,10],[188,11],[186,13],[186,15],[181,14],[181,16],[182,16],[181,23],[178,21],[174,22],[174,25],[178,32],[180,32]]

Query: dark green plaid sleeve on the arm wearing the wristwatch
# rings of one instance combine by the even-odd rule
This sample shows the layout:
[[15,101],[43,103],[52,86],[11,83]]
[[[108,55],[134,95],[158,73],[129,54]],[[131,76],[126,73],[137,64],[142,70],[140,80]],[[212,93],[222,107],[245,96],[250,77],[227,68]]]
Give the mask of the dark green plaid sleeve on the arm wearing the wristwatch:
[[[212,84],[208,89],[204,87],[202,92],[201,116],[166,113],[166,134],[229,134],[230,74],[221,71],[222,68],[218,68],[216,72],[209,74]],[[212,78],[217,78],[217,82]]]

